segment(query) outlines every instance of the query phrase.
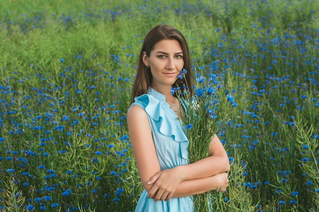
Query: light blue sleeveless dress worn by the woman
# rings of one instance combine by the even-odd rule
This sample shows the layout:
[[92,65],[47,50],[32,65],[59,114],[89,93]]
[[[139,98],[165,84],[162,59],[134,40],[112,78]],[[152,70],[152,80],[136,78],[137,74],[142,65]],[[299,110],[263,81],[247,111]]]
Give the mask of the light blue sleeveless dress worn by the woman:
[[[189,140],[182,130],[182,122],[165,101],[165,96],[149,88],[148,94],[135,98],[132,105],[142,107],[148,116],[161,170],[188,164]],[[157,201],[140,196],[135,212],[193,212],[191,196]]]

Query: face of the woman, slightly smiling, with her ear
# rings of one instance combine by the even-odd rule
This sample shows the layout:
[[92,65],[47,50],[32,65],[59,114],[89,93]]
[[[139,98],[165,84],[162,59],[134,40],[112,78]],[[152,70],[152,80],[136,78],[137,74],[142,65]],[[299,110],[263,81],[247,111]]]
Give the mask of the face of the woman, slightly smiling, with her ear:
[[143,52],[143,62],[150,67],[153,88],[171,87],[184,66],[183,52],[177,40],[162,40],[149,57]]

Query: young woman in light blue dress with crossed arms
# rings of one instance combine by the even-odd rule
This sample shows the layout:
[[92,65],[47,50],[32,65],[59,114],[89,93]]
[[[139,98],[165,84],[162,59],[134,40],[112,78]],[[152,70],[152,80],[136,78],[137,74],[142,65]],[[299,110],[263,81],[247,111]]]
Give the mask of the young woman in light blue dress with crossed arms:
[[[172,95],[182,69],[192,93],[190,52],[184,36],[169,25],[157,25],[146,35],[127,111],[129,137],[145,188],[136,212],[191,212],[192,195],[224,192],[228,184],[227,153],[217,136],[209,157],[188,164],[188,138],[180,116],[185,107]],[[178,85],[179,84],[179,85]]]

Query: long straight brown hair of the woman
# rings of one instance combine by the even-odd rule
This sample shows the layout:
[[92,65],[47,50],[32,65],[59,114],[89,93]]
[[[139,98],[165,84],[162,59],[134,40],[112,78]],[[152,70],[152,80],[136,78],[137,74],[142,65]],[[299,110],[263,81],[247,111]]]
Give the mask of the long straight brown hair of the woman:
[[136,73],[135,82],[132,88],[131,103],[134,102],[134,98],[147,93],[147,90],[152,81],[152,74],[143,63],[143,52],[146,52],[147,56],[150,56],[151,51],[154,49],[156,43],[162,40],[177,40],[183,52],[184,69],[187,70],[187,74],[181,80],[177,79],[172,85],[173,87],[180,87],[187,85],[188,90],[193,94],[192,83],[192,70],[191,70],[191,58],[190,50],[184,36],[174,27],[169,25],[157,25],[151,29],[146,35],[141,48],[138,68]]

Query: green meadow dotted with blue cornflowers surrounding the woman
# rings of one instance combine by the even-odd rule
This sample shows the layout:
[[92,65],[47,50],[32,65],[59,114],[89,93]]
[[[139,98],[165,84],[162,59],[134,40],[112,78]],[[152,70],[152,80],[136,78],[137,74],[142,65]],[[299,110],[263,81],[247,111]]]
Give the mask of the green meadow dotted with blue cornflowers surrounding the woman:
[[179,29],[237,107],[216,211],[319,211],[315,0],[0,1],[0,211],[134,211],[126,110],[144,36]]

